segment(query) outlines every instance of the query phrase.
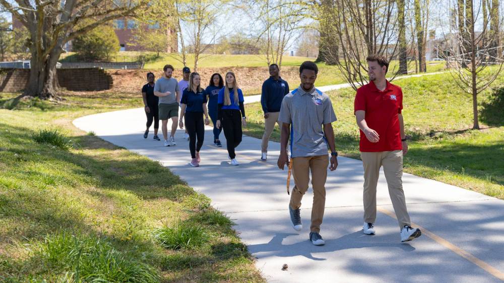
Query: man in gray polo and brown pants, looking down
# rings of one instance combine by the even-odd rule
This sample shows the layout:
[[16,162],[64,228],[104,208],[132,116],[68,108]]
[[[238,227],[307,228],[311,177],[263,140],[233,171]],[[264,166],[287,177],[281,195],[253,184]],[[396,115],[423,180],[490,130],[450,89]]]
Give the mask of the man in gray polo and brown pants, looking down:
[[336,170],[338,166],[336,159],[338,153],[331,125],[336,121],[331,100],[325,93],[314,87],[318,72],[319,69],[315,63],[303,62],[299,67],[301,85],[282,100],[278,118],[280,122],[283,122],[278,168],[283,170],[285,164],[289,164],[286,148],[290,137],[290,162],[292,162],[295,183],[289,203],[292,226],[296,231],[302,229],[299,208],[301,199],[308,189],[311,171],[313,205],[309,240],[314,245],[324,245],[319,232],[326,204],[325,185],[329,165],[327,149],[328,147],[331,149],[331,171]]

